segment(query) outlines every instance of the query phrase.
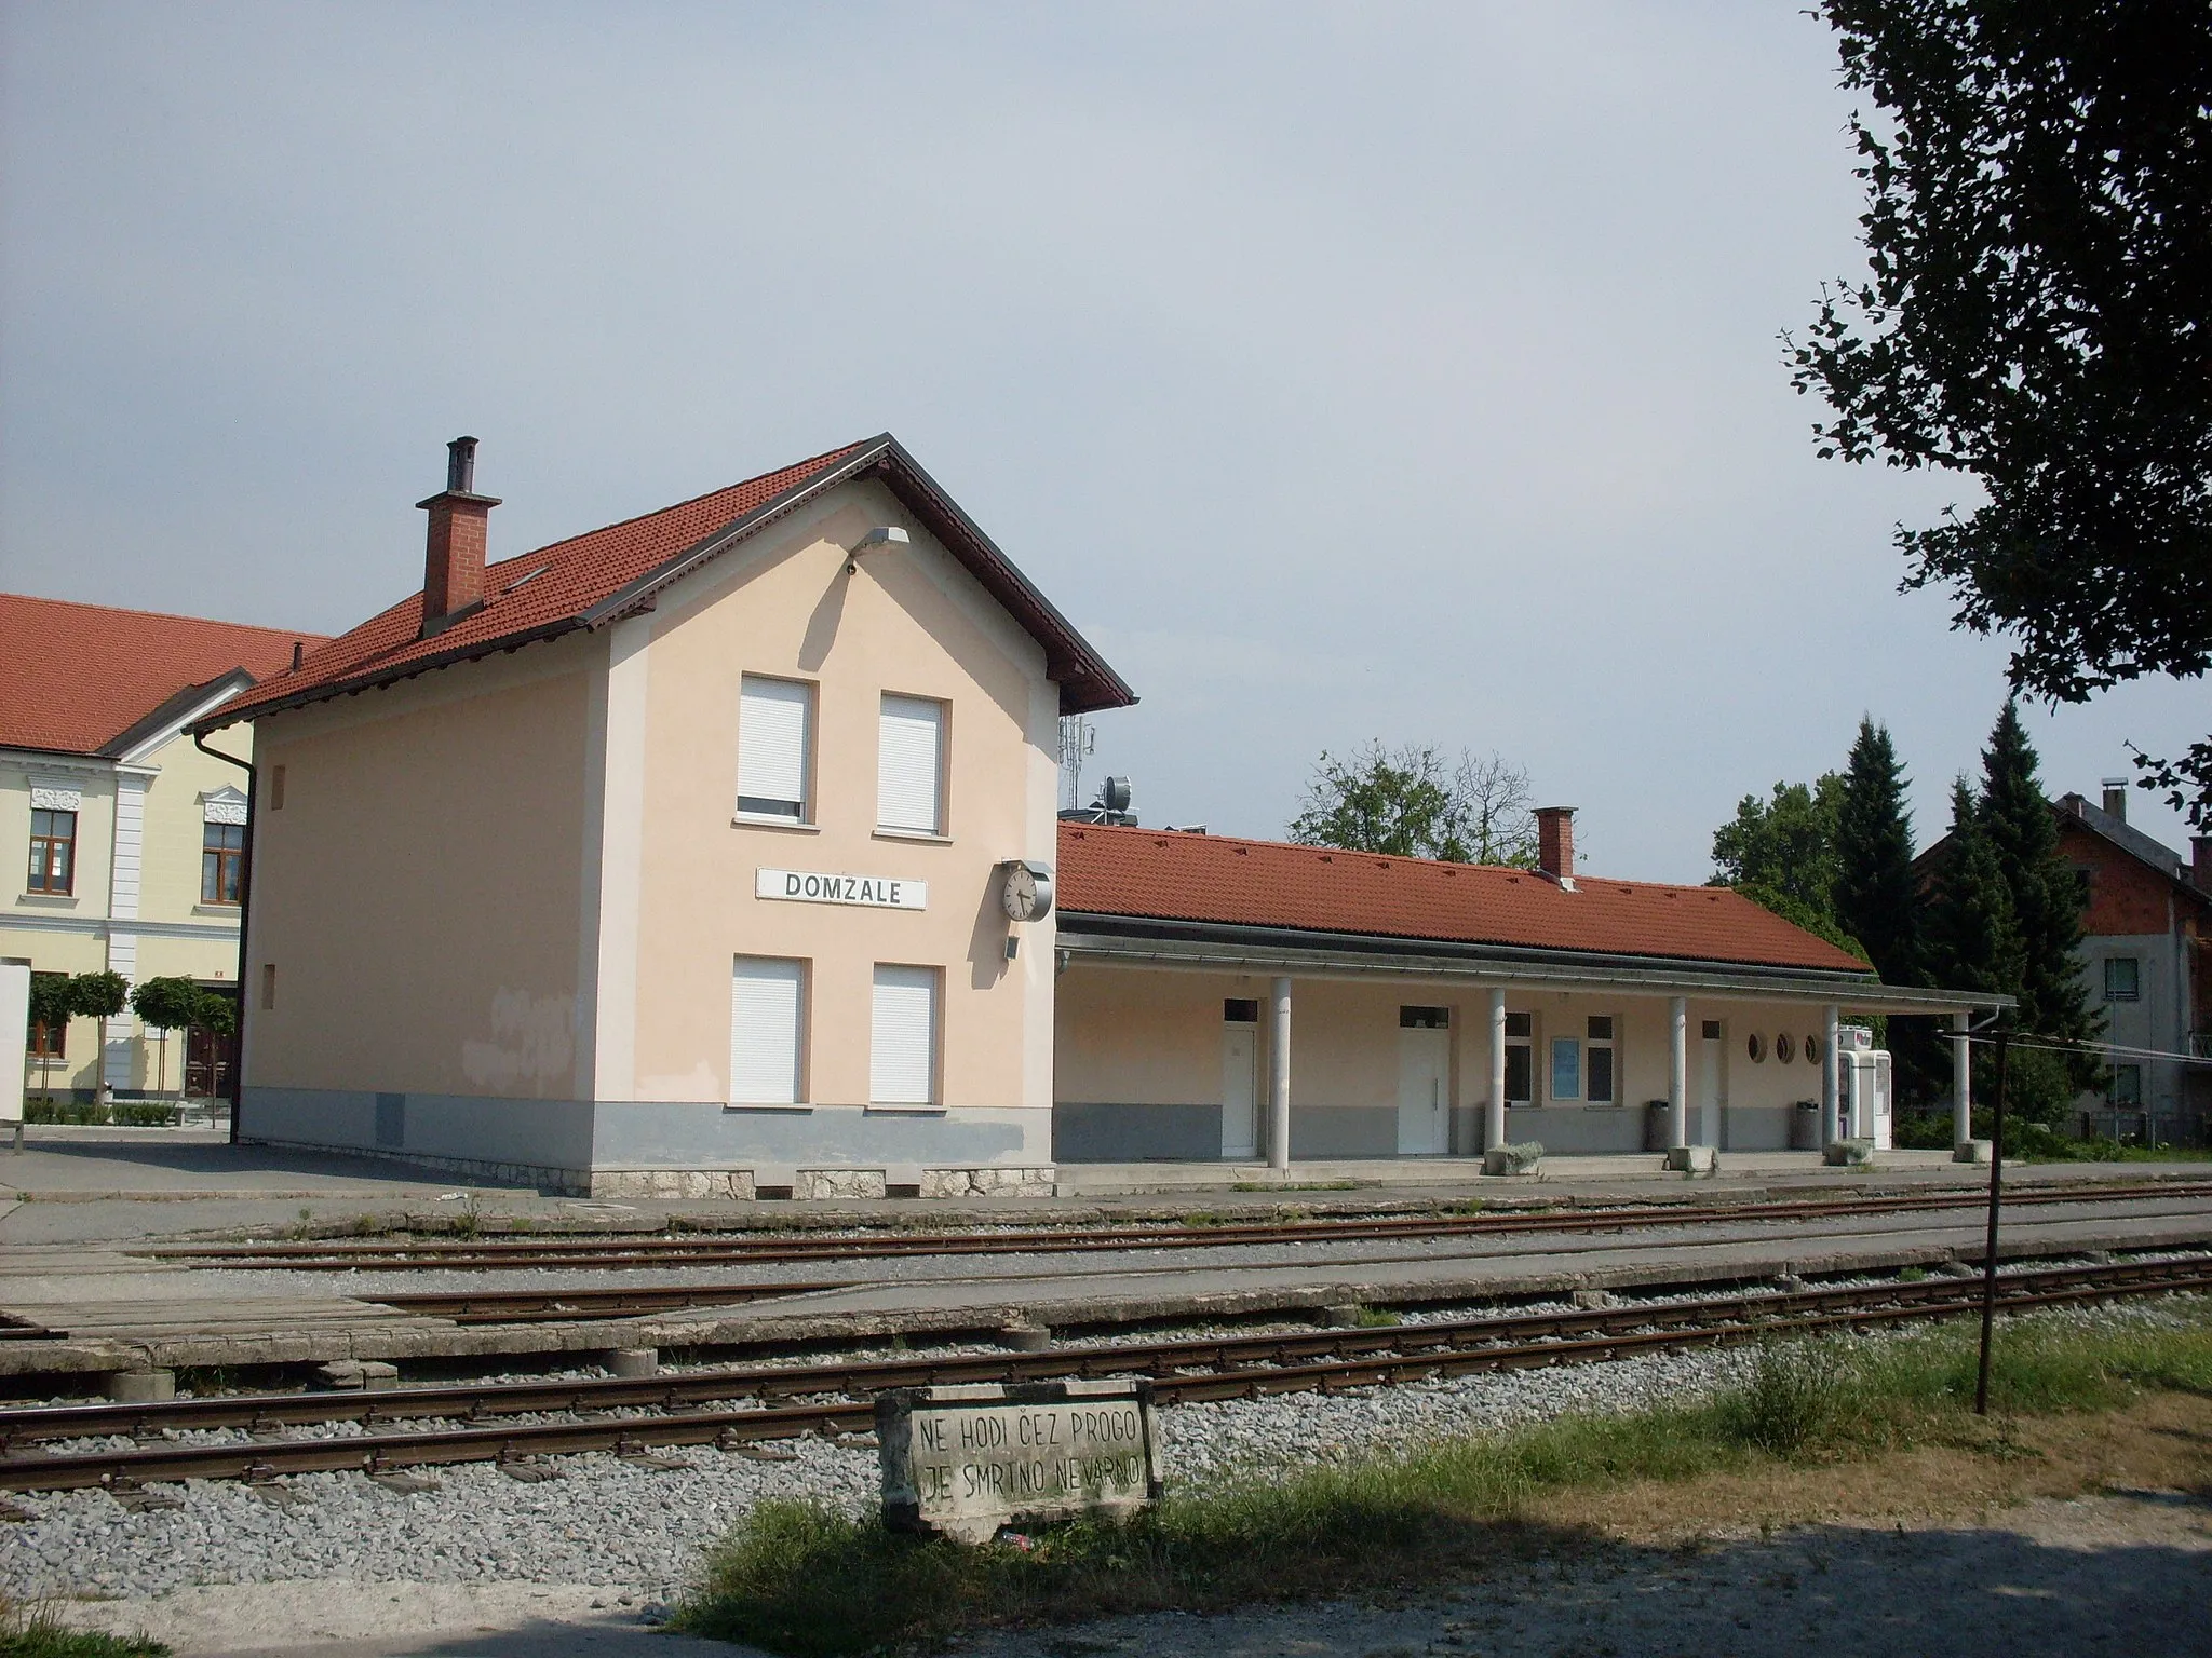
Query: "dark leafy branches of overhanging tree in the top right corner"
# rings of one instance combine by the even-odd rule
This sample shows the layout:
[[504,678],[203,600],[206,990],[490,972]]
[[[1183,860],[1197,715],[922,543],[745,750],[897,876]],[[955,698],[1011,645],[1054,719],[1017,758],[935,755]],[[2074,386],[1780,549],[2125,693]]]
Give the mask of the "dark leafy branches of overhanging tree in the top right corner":
[[[2011,637],[2022,692],[2212,665],[2212,7],[1823,0],[1869,274],[1792,378],[1823,455],[1971,478],[1909,588]],[[2212,822],[2212,745],[2139,756]]]

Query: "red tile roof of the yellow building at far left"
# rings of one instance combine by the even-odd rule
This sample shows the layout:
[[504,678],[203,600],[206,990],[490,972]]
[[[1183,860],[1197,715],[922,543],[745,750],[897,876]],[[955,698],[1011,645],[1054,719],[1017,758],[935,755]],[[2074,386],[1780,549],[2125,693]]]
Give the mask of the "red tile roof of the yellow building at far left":
[[0,592],[0,745],[97,754],[188,685],[265,679],[316,632]]

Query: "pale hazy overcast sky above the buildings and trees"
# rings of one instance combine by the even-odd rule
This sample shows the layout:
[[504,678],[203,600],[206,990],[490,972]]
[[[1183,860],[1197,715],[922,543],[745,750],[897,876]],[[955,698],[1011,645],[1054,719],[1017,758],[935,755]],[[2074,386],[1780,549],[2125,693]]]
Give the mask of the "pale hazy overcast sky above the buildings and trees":
[[[1958,486],[1816,460],[1856,270],[1790,4],[0,9],[0,584],[343,630],[880,429],[1144,696],[1091,776],[1281,833],[1323,747],[1498,749],[1703,880],[1863,710],[1922,842],[2000,643],[1898,595]],[[2053,794],[2203,683],[2031,730]],[[2185,831],[2135,791],[2130,818]]]

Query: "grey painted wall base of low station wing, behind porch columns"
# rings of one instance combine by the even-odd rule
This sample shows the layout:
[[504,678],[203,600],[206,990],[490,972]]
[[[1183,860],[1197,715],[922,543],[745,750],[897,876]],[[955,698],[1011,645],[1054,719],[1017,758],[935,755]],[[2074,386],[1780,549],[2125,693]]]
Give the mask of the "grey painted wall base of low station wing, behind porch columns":
[[[1790,1150],[1787,1105],[1730,1105],[1721,1112],[1723,1152]],[[1453,1110],[1451,1150],[1478,1156],[1482,1112]],[[1690,1112],[1690,1138],[1699,1114]],[[1641,1105],[1537,1105],[1506,1112],[1506,1141],[1540,1141],[1551,1156],[1606,1156],[1644,1152]],[[1396,1158],[1398,1112],[1380,1108],[1290,1108],[1292,1161]],[[1219,1163],[1219,1105],[1093,1105],[1053,1108],[1055,1163]],[[1239,1158],[1248,1161],[1248,1158]]]

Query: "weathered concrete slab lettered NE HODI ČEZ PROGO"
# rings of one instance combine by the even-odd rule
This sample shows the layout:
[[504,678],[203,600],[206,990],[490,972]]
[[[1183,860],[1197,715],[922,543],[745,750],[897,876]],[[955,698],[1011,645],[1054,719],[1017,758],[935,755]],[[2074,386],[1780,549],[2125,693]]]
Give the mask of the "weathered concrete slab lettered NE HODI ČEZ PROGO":
[[1159,1501],[1152,1384],[894,1388],[876,1399],[885,1523],[989,1541],[1018,1521]]

